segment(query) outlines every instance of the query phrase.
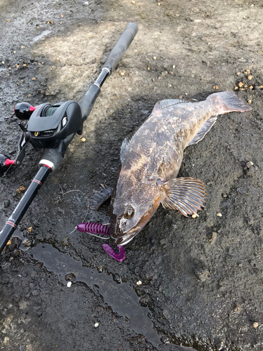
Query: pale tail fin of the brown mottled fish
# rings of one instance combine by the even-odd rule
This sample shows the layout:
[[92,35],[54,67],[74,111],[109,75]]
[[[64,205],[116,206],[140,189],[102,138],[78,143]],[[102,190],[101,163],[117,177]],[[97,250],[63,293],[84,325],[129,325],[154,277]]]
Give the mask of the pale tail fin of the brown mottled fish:
[[252,110],[250,106],[245,105],[243,100],[238,98],[234,93],[231,93],[230,91],[211,94],[206,100],[214,100],[213,103],[219,105],[220,112],[218,112],[218,114],[234,111],[245,112]]

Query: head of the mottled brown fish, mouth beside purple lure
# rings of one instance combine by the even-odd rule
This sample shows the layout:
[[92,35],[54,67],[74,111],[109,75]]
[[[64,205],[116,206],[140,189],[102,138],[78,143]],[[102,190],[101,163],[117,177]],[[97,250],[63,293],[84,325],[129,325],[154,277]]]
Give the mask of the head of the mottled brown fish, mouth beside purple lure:
[[157,190],[156,185],[146,185],[115,191],[110,211],[112,244],[128,244],[149,222],[161,201]]

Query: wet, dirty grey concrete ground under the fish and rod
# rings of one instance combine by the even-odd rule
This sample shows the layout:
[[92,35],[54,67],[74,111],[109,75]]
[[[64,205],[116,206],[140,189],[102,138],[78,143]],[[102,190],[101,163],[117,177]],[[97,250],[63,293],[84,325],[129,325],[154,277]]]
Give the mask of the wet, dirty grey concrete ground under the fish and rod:
[[[86,142],[76,135],[20,223],[29,249],[13,238],[1,254],[0,350],[262,350],[262,1],[0,6],[0,152],[11,158],[15,103],[79,100],[128,22],[139,27],[86,121]],[[84,218],[109,223],[106,205],[88,211],[88,196],[114,187],[122,140],[157,101],[215,91],[236,91],[252,112],[220,117],[185,150],[179,176],[207,187],[199,218],[160,207],[123,263],[100,239],[72,232]],[[1,223],[41,153],[27,147],[1,178]]]

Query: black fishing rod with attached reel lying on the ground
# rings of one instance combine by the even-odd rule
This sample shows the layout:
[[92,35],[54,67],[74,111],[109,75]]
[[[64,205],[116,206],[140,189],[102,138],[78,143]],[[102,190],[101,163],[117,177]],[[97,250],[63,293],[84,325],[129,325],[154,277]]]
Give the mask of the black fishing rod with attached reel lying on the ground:
[[25,157],[25,146],[28,143],[31,143],[35,150],[44,148],[46,151],[41,161],[39,161],[39,171],[0,232],[0,253],[4,250],[6,243],[48,175],[60,165],[74,135],[76,133],[82,134],[83,122],[88,118],[95,100],[100,94],[100,88],[107,77],[116,69],[137,31],[138,28],[135,23],[130,22],[127,25],[109,53],[100,75],[79,102],[68,100],[53,105],[43,103],[36,107],[29,105],[27,102],[15,105],[15,116],[22,120],[19,123],[22,135],[18,144],[18,154],[14,160],[1,154],[0,171],[6,171],[13,164],[20,165]]

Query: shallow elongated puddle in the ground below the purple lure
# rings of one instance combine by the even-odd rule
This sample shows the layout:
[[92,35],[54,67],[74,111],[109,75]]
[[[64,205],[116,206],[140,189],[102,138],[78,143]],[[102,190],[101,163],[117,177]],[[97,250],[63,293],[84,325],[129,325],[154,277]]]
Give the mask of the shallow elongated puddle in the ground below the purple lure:
[[[6,216],[0,213],[0,229],[6,220]],[[15,230],[13,237],[19,237],[22,242],[27,240],[19,230]],[[155,347],[163,345],[159,333],[154,329],[154,325],[148,317],[148,314],[151,314],[149,308],[140,305],[139,298],[132,286],[126,283],[116,284],[112,275],[97,272],[94,268],[83,267],[81,259],[77,260],[66,253],[61,253],[50,244],[37,244],[29,249],[20,245],[20,249],[27,251],[34,260],[43,263],[49,272],[57,274],[60,279],[64,280],[65,284],[67,282],[65,276],[69,273],[73,273],[75,276],[73,284],[74,282],[83,282],[90,289],[94,289],[94,284],[96,284],[104,304],[112,307],[113,312],[119,316],[123,316],[123,326],[126,329],[143,334]],[[185,347],[185,350],[194,349]]]

